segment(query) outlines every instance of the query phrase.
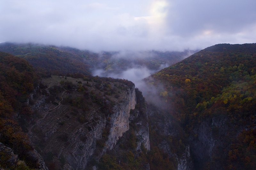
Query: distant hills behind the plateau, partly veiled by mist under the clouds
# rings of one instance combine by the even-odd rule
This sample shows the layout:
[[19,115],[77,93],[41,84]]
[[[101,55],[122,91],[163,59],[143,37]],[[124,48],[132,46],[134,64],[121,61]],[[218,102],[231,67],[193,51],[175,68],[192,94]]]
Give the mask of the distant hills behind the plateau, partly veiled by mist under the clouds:
[[145,67],[156,71],[181,61],[195,51],[183,52],[101,52],[93,53],[69,47],[44,46],[36,44],[1,43],[0,51],[26,59],[42,76],[47,75],[90,75],[101,70],[101,76],[118,74],[131,68]]

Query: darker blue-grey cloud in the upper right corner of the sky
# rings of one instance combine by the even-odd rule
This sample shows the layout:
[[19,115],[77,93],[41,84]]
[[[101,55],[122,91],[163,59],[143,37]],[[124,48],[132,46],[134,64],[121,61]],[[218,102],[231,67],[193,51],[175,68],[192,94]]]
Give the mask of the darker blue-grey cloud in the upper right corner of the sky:
[[204,30],[235,33],[256,24],[256,1],[175,1],[168,13],[171,34],[194,36]]

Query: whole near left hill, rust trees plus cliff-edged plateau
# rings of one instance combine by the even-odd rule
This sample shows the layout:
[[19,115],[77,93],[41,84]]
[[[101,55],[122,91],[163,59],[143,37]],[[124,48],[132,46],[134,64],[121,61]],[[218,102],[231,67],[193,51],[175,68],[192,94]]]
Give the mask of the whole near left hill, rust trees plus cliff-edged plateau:
[[[44,161],[49,169],[104,167],[108,162],[97,161],[125,132],[131,140],[122,153],[149,150],[146,113],[130,113],[139,107],[132,82],[98,76],[38,80],[26,60],[4,52],[0,66],[1,168],[48,169]],[[144,102],[143,96],[138,100]],[[130,121],[140,128],[130,132]]]

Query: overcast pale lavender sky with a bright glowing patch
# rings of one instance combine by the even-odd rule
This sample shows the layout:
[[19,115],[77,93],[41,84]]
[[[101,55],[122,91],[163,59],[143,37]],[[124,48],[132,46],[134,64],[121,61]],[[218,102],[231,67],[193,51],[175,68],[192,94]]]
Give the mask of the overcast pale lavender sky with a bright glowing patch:
[[100,50],[256,42],[256,0],[0,0],[0,43]]

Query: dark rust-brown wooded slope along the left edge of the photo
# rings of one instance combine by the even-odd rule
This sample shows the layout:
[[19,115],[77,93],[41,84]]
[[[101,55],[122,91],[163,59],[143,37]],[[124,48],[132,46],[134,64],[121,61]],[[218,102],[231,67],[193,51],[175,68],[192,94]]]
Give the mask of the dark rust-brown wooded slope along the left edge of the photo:
[[[21,160],[26,160],[30,167],[35,167],[27,159],[32,147],[14,117],[32,113],[26,102],[29,93],[34,90],[36,79],[33,67],[26,60],[0,52],[0,142],[10,147]],[[1,152],[0,167],[21,168],[9,165],[9,159]]]

